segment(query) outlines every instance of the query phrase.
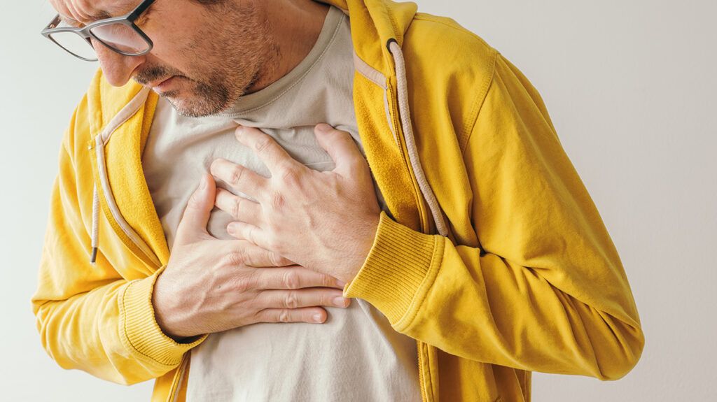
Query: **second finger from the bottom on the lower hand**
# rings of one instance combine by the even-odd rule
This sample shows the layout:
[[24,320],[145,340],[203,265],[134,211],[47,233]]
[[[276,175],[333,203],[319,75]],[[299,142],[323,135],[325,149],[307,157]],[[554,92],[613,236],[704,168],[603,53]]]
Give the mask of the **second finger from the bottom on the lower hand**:
[[302,308],[328,306],[347,308],[351,300],[343,298],[340,290],[313,288],[302,290],[264,290],[256,298],[264,308]]

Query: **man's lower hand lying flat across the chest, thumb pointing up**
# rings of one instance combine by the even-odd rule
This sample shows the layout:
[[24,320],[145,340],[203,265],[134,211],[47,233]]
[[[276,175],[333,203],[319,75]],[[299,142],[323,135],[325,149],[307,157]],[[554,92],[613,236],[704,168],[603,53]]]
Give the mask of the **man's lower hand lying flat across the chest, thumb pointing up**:
[[336,278],[245,240],[209,235],[215,195],[212,176],[204,175],[155,283],[155,316],[166,335],[179,340],[259,322],[323,323],[326,310],[319,306],[348,307]]

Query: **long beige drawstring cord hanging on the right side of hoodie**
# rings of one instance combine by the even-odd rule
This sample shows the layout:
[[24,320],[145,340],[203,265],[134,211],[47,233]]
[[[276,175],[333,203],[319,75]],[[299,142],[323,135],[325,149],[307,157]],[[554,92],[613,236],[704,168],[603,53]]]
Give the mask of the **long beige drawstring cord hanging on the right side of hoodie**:
[[421,161],[418,156],[418,149],[416,147],[416,139],[413,135],[413,126],[411,123],[411,112],[409,109],[408,102],[408,81],[406,78],[406,62],[403,57],[401,46],[399,46],[396,39],[390,39],[388,42],[388,48],[391,55],[394,57],[394,64],[396,65],[396,77],[398,81],[398,100],[399,100],[399,112],[401,113],[401,125],[404,132],[404,138],[406,139],[406,147],[408,149],[408,157],[413,167],[413,171],[418,181],[418,186],[426,198],[428,207],[433,215],[433,221],[436,224],[436,230],[442,236],[448,235],[448,229],[443,214],[438,204],[431,186],[426,180],[426,175],[421,167]]

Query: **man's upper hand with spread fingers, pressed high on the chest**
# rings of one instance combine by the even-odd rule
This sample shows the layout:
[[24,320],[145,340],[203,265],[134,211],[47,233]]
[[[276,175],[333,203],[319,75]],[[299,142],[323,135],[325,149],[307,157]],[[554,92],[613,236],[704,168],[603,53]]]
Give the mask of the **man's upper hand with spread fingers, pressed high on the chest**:
[[348,283],[369,255],[381,209],[351,135],[328,124],[318,124],[315,134],[336,164],[331,172],[293,160],[259,129],[239,127],[237,139],[257,152],[272,177],[215,160],[212,175],[258,201],[220,189],[216,205],[237,220],[227,226],[230,235]]

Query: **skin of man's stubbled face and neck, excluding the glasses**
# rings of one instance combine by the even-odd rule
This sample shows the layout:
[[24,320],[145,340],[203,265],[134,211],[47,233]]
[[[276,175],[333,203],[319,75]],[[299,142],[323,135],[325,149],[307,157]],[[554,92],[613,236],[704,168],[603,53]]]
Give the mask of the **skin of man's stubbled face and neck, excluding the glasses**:
[[[50,2],[60,15],[87,24],[92,15],[123,15],[141,1]],[[227,109],[293,69],[315,43],[327,11],[310,0],[227,0],[210,6],[156,0],[137,21],[154,43],[151,53],[126,57],[92,41],[110,84],[134,79],[155,87],[178,77],[156,92],[181,114],[200,117]]]

